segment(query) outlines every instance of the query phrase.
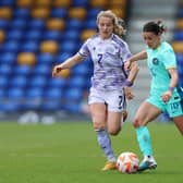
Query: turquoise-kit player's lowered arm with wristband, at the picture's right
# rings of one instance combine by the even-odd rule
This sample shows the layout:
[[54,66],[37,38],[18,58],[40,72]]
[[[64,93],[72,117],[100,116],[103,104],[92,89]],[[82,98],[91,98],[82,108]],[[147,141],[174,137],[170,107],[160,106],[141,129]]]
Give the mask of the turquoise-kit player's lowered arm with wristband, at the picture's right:
[[174,88],[178,85],[178,72],[176,69],[168,69],[168,72],[170,74],[170,84],[169,84],[169,89],[162,94],[161,98],[162,101],[167,102],[170,100],[170,98],[172,97],[172,93],[174,90]]

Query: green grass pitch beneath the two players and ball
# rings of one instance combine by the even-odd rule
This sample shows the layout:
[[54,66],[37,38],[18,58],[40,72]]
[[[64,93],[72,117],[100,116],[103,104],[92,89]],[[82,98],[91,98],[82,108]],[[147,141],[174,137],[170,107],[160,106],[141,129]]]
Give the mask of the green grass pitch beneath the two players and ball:
[[[0,123],[0,183],[182,183],[183,138],[173,124],[151,123],[158,168],[138,174],[102,172],[106,162],[90,122],[52,125]],[[112,137],[117,155],[142,159],[135,131],[125,123]]]

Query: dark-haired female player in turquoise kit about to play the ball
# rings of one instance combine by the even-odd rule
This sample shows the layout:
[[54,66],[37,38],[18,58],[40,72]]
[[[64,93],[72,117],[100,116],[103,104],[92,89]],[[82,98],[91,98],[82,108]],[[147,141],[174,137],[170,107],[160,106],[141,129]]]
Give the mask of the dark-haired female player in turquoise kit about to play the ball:
[[161,40],[166,27],[161,21],[148,22],[144,25],[143,37],[147,49],[134,54],[125,62],[125,69],[137,60],[147,59],[151,74],[150,95],[138,108],[134,126],[144,160],[139,171],[155,169],[157,162],[152,157],[150,134],[146,124],[155,120],[161,112],[167,111],[183,135],[183,102],[178,87],[178,72],[175,54],[172,47]]

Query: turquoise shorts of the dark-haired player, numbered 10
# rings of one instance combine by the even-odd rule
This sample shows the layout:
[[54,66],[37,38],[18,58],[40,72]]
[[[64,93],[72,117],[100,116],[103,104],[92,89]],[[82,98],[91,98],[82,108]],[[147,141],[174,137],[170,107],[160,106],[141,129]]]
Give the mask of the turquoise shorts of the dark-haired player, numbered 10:
[[173,95],[170,101],[163,102],[159,95],[151,95],[146,100],[147,102],[156,106],[161,111],[167,111],[170,118],[183,115],[183,101],[179,94]]

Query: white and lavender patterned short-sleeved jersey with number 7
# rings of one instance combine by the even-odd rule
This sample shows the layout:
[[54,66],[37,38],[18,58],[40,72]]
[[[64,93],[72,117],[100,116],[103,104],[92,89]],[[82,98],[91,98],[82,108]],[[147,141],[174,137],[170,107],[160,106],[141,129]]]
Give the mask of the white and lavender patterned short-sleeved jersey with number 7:
[[78,54],[90,56],[94,62],[91,87],[99,90],[122,90],[127,73],[124,62],[132,57],[127,44],[112,34],[109,39],[95,35],[81,47]]

